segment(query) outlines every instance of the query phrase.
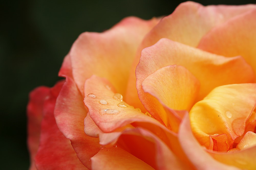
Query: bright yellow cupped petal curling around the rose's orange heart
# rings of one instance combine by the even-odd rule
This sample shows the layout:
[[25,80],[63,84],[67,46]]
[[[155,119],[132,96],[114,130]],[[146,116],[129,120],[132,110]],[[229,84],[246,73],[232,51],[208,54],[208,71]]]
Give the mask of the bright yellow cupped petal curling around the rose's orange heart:
[[201,145],[210,149],[210,139],[214,139],[214,150],[232,149],[234,140],[244,133],[246,121],[255,108],[255,90],[256,84],[219,86],[194,105],[189,116],[192,131]]

